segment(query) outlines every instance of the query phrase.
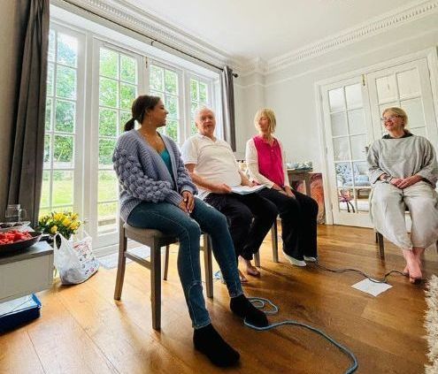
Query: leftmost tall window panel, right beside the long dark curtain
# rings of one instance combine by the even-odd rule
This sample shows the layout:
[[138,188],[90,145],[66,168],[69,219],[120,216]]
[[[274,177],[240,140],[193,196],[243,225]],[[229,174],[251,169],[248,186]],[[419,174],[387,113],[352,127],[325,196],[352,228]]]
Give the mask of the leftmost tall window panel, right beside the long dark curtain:
[[52,210],[72,210],[75,189],[80,182],[76,180],[75,171],[79,165],[75,152],[78,151],[81,38],[52,27],[49,40],[41,214]]

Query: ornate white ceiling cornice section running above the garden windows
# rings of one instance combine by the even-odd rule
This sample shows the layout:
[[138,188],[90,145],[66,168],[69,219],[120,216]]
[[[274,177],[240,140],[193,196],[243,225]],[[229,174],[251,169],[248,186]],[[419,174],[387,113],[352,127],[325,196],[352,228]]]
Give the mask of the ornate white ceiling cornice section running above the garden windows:
[[215,49],[210,44],[187,34],[147,11],[135,7],[124,0],[65,0],[66,3],[80,5],[106,19],[140,32],[151,39],[165,43],[188,55],[200,58],[211,65],[231,65],[241,70],[241,61],[233,60],[227,53]]

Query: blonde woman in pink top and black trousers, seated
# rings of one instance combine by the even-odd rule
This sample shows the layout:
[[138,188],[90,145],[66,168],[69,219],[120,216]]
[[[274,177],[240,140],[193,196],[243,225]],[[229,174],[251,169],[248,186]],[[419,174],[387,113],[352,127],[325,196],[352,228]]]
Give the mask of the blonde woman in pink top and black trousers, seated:
[[290,188],[285,154],[280,141],[273,136],[276,126],[273,111],[257,111],[254,125],[258,135],[246,143],[246,163],[250,178],[267,187],[259,195],[279,210],[283,253],[296,266],[305,266],[305,261],[315,262],[318,203]]

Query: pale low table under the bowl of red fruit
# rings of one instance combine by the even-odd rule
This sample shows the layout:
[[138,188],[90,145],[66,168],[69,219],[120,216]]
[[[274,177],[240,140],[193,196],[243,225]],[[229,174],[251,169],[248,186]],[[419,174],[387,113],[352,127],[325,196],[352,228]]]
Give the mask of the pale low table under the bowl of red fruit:
[[0,302],[50,288],[53,283],[53,248],[40,241],[18,254],[1,255]]

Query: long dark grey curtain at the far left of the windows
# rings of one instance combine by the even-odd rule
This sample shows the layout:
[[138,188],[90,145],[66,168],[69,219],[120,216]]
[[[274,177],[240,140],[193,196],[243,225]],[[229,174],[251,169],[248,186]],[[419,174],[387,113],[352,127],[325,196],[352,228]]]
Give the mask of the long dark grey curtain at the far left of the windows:
[[[19,203],[36,223],[42,187],[44,114],[46,105],[49,0],[16,1],[19,12],[17,92],[12,123],[9,192],[7,203]],[[4,177],[4,176],[1,176]]]

